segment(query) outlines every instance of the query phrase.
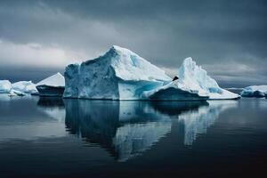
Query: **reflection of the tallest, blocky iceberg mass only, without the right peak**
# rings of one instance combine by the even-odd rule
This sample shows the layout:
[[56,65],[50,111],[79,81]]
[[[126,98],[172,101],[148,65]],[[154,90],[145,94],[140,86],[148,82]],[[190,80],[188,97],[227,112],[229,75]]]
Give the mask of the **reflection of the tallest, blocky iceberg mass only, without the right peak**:
[[171,131],[171,120],[149,102],[64,100],[71,134],[98,143],[118,161],[141,154]]

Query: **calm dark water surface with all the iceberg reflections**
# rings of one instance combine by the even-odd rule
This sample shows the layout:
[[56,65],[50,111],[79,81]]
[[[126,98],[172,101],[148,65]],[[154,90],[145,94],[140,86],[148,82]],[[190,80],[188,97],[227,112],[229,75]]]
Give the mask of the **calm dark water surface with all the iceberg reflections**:
[[[0,96],[0,177],[264,177],[267,100]],[[262,176],[261,176],[262,175]]]

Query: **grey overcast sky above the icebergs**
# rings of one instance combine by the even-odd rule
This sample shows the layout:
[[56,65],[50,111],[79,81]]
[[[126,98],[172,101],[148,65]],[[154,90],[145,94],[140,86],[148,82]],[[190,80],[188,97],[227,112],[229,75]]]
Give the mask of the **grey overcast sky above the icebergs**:
[[42,79],[117,44],[173,76],[192,57],[222,84],[267,84],[267,1],[0,1],[0,79]]

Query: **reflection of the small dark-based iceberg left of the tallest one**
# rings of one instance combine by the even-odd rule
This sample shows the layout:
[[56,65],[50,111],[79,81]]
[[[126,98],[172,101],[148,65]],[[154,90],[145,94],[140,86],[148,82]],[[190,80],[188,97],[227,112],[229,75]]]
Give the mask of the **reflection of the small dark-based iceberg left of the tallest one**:
[[64,122],[66,111],[64,107],[64,102],[60,97],[40,97],[37,102],[39,110],[41,110],[47,116],[58,120],[59,122]]

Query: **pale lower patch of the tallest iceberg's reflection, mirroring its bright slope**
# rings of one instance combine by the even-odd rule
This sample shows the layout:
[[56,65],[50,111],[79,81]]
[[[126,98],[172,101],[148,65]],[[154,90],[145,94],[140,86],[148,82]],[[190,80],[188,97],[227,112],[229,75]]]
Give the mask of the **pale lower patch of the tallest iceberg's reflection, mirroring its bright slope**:
[[120,161],[140,155],[149,150],[161,137],[171,131],[171,122],[127,124],[117,128],[113,144]]

